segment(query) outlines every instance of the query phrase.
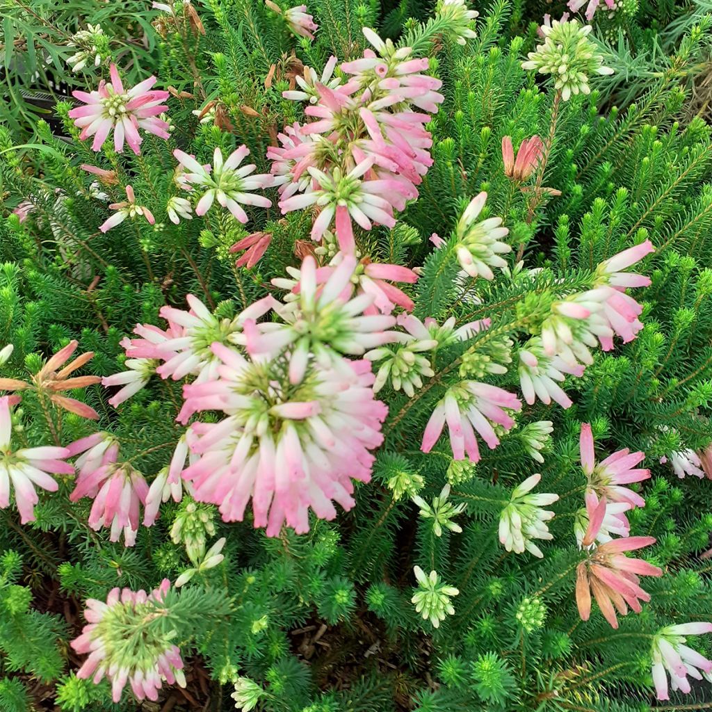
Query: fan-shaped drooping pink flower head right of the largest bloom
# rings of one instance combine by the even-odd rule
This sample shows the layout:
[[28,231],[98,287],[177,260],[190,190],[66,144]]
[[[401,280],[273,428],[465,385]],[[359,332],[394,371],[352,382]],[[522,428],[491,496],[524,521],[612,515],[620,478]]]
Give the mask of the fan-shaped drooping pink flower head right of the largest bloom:
[[465,453],[472,462],[478,462],[480,453],[475,431],[493,450],[499,439],[492,424],[511,429],[514,421],[504,410],[518,411],[522,407],[518,398],[502,388],[476,381],[462,381],[447,389],[436,405],[423,434],[420,449],[430,452],[447,423],[453,459],[464,460]]

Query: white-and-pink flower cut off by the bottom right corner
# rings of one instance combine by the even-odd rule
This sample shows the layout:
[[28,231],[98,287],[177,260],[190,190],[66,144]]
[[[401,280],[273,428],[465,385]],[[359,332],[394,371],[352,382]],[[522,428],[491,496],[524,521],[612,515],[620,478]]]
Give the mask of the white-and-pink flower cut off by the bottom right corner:
[[668,681],[673,691],[691,691],[687,676],[712,682],[712,660],[686,645],[686,636],[712,633],[712,623],[680,623],[661,628],[651,646],[652,675],[659,700],[668,700]]

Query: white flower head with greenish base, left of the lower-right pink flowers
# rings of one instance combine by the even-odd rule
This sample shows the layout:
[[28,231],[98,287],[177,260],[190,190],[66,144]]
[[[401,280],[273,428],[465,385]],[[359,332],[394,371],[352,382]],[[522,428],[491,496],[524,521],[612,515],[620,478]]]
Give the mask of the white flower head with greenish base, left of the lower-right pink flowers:
[[554,513],[542,507],[557,501],[557,494],[530,494],[539,483],[541,475],[528,477],[518,487],[514,488],[509,504],[503,509],[499,519],[499,540],[507,551],[517,554],[525,550],[539,558],[543,558],[540,548],[533,539],[551,540],[546,524]]

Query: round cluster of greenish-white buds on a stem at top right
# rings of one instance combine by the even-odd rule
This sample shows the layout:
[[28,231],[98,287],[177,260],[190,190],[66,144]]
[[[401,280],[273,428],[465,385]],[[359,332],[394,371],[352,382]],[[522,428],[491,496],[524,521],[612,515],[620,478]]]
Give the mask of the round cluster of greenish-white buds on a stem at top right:
[[576,20],[555,20],[550,27],[543,26],[544,41],[528,54],[522,68],[552,75],[554,87],[561,91],[564,101],[572,94],[589,94],[591,75],[613,73],[604,66],[603,56],[588,38],[591,30],[590,25],[581,26]]

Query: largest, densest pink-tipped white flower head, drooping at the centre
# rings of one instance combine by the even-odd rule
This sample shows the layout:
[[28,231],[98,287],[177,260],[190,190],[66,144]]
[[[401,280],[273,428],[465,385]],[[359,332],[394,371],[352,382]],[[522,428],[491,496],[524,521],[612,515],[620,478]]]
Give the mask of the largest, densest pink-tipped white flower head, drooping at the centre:
[[350,509],[352,479],[369,481],[387,413],[374,399],[370,364],[339,358],[295,388],[281,385],[277,360],[255,362],[217,343],[213,350],[218,378],[184,387],[192,411],[228,415],[192,426],[200,459],[183,478],[194,496],[219,505],[226,521],[241,521],[251,499],[255,526],[268,536],[285,523],[305,533],[310,508],[325,519],[336,515],[333,501]]

